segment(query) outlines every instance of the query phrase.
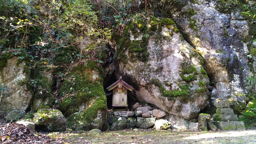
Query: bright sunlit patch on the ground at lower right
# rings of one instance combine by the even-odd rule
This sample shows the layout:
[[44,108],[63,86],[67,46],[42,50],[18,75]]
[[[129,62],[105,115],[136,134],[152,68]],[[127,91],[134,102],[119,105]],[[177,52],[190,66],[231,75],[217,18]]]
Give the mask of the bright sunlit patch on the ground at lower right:
[[185,139],[207,139],[207,138],[217,138],[217,137],[237,137],[237,136],[244,136],[244,135],[256,135],[256,131],[229,131],[225,133],[205,133],[199,134],[196,136],[190,136]]

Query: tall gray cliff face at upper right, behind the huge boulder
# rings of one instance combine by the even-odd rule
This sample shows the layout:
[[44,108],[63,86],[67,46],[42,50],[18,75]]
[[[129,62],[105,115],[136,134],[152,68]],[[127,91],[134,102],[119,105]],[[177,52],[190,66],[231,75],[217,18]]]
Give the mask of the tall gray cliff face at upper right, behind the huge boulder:
[[249,24],[237,12],[238,7],[241,5],[219,0],[180,0],[170,8],[162,7],[204,58],[205,70],[215,85],[213,98],[246,99],[236,94],[246,93],[244,79],[252,75],[246,41]]

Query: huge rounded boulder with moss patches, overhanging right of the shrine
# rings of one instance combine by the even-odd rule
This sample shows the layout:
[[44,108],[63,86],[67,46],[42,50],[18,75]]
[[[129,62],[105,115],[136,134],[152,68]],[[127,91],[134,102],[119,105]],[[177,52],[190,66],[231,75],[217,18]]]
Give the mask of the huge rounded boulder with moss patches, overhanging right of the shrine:
[[[117,39],[116,70],[145,101],[173,115],[196,120],[207,105],[209,79],[203,59],[172,19],[152,19],[148,37],[134,24]],[[141,24],[143,25],[143,23]],[[129,30],[128,30],[129,29]]]

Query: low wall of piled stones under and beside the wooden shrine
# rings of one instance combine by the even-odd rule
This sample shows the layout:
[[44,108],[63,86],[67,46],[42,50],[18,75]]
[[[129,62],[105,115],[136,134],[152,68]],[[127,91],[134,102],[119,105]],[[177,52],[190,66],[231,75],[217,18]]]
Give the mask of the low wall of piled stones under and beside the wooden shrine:
[[121,130],[125,128],[138,127],[148,129],[155,125],[156,129],[169,129],[171,123],[168,122],[166,113],[162,110],[153,109],[151,106],[136,103],[132,106],[134,111],[113,111],[108,116],[110,130]]

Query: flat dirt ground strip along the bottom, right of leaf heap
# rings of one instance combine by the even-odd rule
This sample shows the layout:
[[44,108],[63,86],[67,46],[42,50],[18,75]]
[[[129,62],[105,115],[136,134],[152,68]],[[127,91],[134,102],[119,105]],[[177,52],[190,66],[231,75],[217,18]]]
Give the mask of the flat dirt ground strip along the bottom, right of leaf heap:
[[244,131],[190,131],[190,130],[155,130],[155,129],[125,129],[120,131],[106,131],[98,134],[88,134],[84,131],[67,131],[64,133],[45,133],[51,143],[99,143],[99,144],[138,144],[138,143],[227,143],[254,144],[256,130]]

